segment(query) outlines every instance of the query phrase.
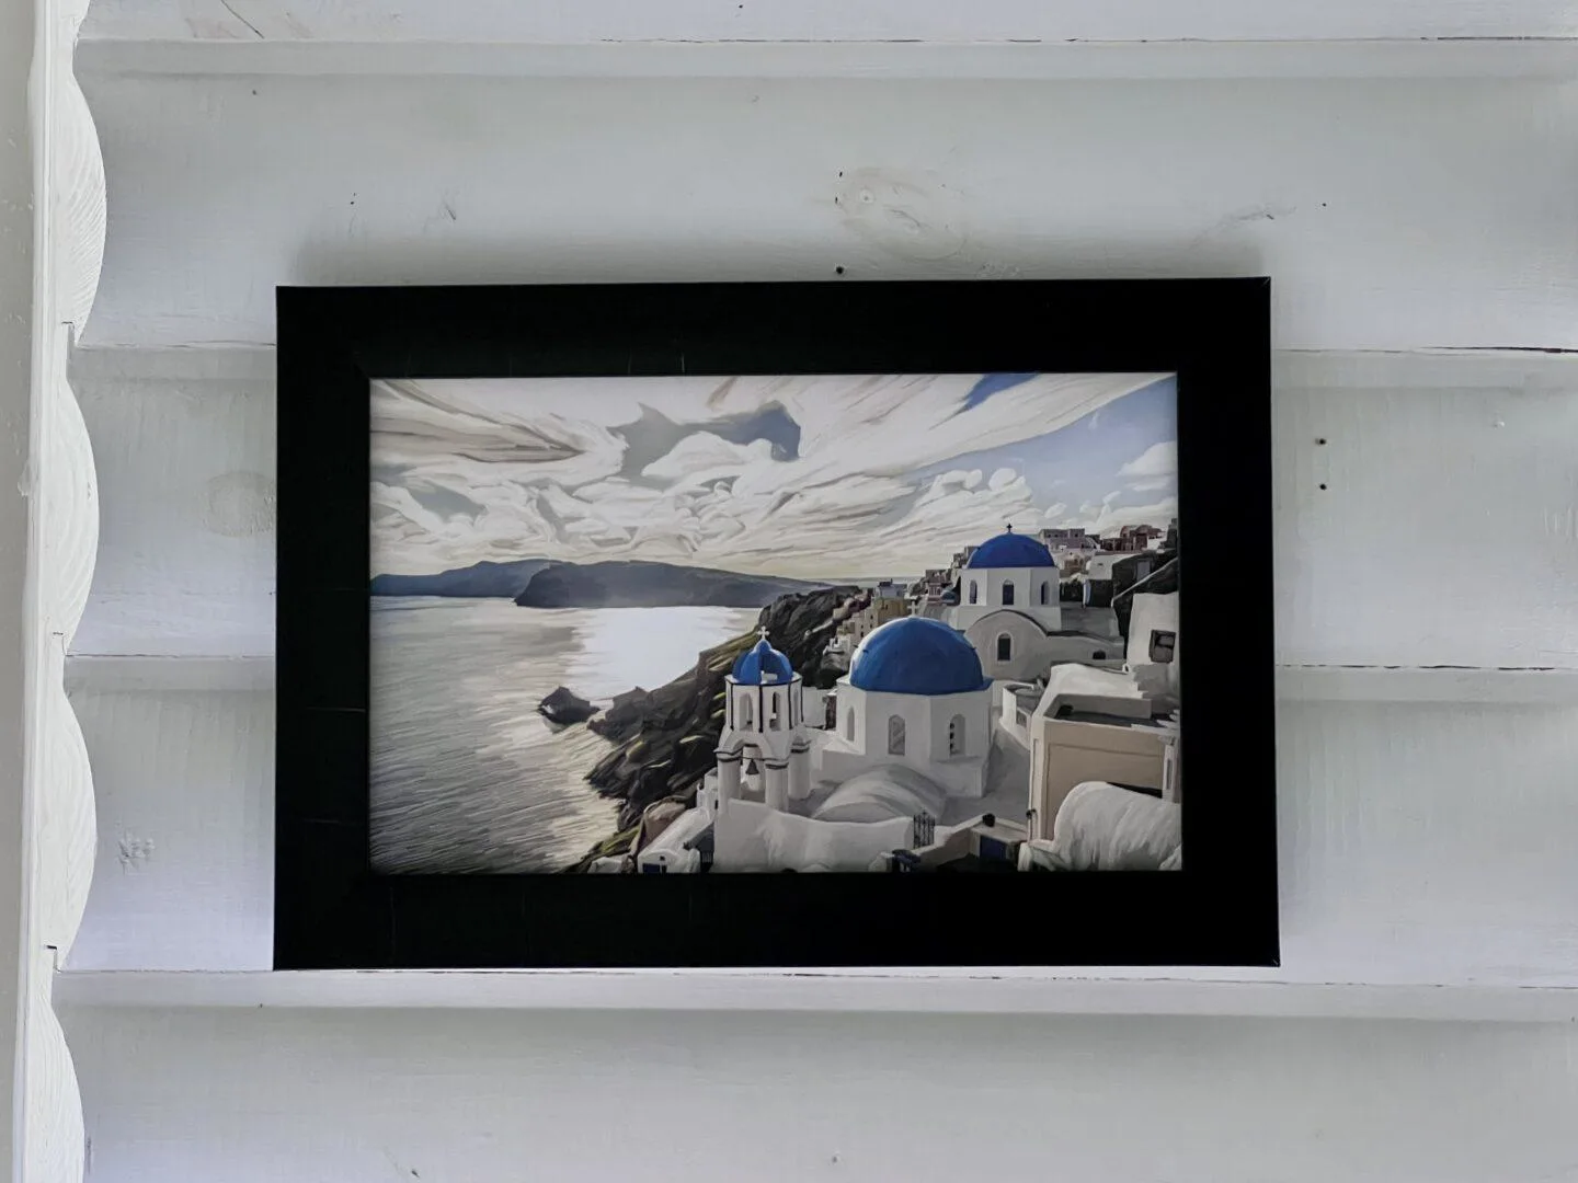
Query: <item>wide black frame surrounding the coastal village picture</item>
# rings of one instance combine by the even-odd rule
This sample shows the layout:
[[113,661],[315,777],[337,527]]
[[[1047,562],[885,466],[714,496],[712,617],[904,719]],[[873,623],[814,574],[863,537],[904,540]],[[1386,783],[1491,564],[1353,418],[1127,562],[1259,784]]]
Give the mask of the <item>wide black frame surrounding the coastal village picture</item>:
[[[1179,601],[1184,871],[372,874],[369,379],[1032,371],[1174,372],[1232,555]],[[1267,279],[281,287],[278,379],[276,968],[1278,964]]]

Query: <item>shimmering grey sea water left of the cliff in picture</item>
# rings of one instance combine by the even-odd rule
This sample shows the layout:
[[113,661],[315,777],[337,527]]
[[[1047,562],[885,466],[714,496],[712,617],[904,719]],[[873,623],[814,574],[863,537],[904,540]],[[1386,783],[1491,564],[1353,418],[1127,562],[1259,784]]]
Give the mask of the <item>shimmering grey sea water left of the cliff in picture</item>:
[[372,598],[372,868],[559,871],[614,833],[585,782],[612,745],[537,713],[555,686],[603,707],[656,689],[754,628],[756,609],[530,609],[508,599]]

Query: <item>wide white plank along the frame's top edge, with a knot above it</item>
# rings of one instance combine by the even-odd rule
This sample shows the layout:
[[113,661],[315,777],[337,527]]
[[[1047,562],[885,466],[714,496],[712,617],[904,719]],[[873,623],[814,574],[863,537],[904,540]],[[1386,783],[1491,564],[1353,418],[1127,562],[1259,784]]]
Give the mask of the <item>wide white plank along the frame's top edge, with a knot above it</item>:
[[[1283,349],[1578,349],[1559,80],[84,79],[88,342],[276,284],[1270,274]],[[631,178],[639,178],[633,183]]]

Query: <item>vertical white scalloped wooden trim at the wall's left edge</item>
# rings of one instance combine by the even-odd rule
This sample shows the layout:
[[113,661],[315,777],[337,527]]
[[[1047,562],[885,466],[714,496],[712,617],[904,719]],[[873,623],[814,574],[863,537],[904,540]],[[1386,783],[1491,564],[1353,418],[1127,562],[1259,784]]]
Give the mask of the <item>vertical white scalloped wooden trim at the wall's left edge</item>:
[[66,377],[104,263],[104,159],[73,74],[87,0],[39,5],[28,80],[33,139],[33,416],[28,538],[28,729],[24,770],[24,1006],[21,1178],[74,1183],[82,1099],[54,1011],[54,972],[82,923],[93,879],[93,773],[65,691],[65,653],[98,550],[98,484]]

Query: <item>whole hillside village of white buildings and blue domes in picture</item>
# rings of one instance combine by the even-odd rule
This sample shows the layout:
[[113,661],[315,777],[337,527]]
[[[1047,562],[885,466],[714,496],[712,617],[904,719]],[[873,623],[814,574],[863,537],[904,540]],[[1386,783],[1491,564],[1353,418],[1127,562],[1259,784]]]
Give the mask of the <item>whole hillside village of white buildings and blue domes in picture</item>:
[[846,588],[814,637],[764,623],[713,696],[712,767],[582,869],[1179,869],[1177,588],[1176,519],[1010,525]]

